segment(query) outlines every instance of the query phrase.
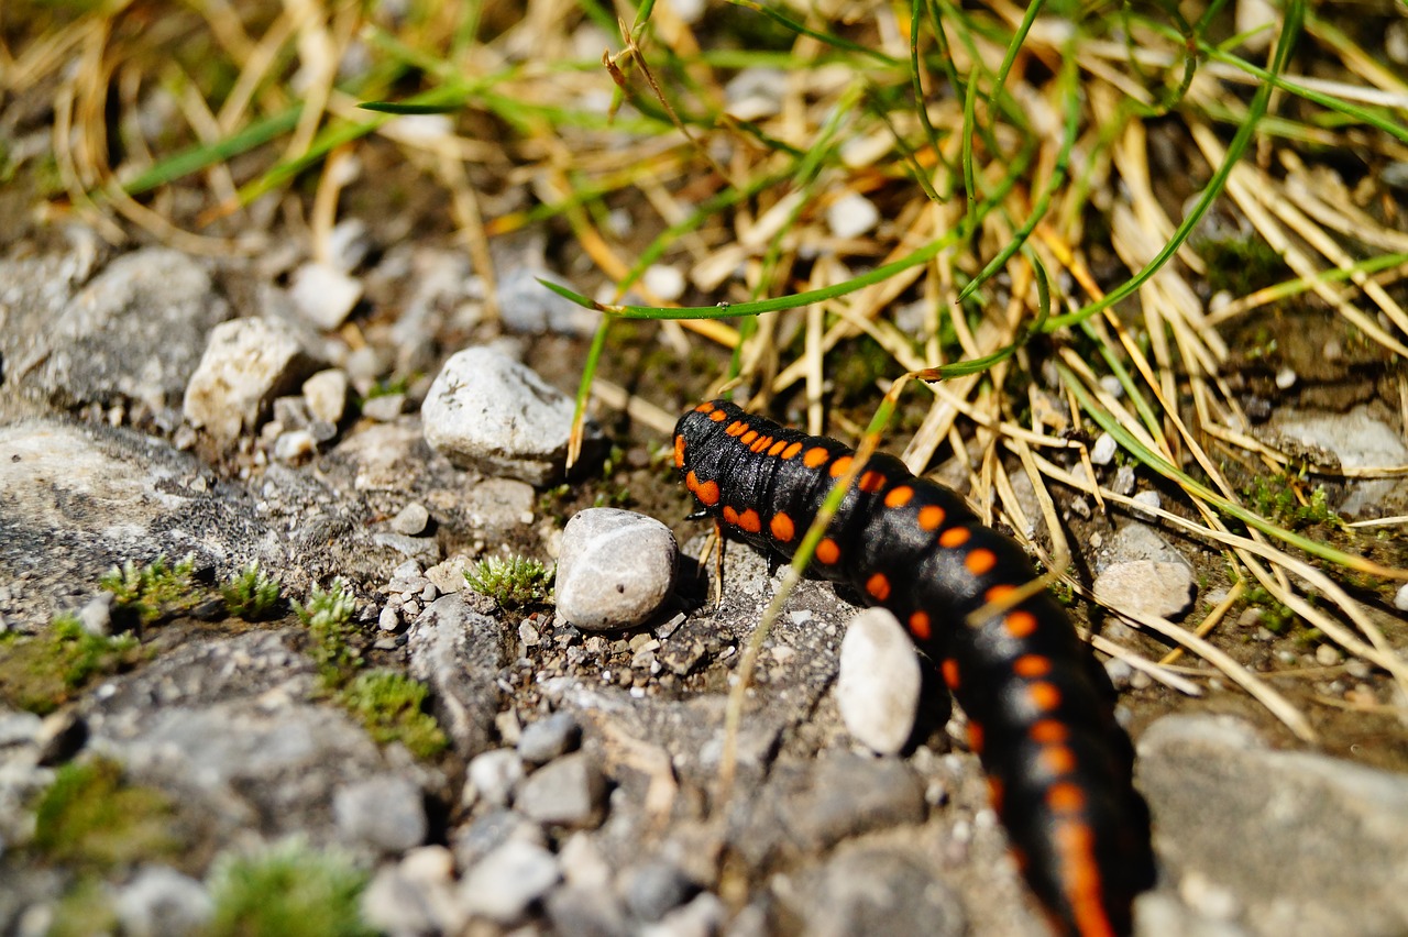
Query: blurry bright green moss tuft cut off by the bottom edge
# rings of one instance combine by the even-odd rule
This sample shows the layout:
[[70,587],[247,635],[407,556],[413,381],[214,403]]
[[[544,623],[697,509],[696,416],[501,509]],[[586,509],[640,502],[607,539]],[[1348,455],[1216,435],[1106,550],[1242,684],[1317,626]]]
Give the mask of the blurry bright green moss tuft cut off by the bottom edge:
[[290,839],[253,855],[222,855],[210,874],[210,937],[375,934],[358,899],[366,872],[335,851]]

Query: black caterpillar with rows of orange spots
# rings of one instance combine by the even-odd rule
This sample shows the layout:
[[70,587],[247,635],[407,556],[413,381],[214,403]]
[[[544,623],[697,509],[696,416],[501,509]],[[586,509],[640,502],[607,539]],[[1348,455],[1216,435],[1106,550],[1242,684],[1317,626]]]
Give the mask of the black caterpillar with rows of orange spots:
[[[674,466],[703,512],[784,559],[853,450],[715,400],[674,429]],[[811,575],[848,582],[894,612],[969,718],[1012,854],[1057,933],[1126,934],[1153,877],[1148,813],[1112,689],[1022,549],[963,498],[877,453],[817,544]]]

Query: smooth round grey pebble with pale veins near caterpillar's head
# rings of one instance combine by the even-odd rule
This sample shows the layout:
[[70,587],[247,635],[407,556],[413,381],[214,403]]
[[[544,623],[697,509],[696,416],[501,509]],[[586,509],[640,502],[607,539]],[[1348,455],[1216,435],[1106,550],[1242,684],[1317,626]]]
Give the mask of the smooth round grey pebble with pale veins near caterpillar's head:
[[674,591],[679,546],[655,518],[589,508],[562,532],[558,612],[586,632],[639,625]]

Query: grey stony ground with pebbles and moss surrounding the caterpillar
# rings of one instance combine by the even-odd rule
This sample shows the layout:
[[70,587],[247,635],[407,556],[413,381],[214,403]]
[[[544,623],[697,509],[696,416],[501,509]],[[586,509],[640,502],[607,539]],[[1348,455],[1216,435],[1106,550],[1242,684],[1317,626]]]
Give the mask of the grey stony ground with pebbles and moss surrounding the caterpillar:
[[[780,577],[735,546],[715,606],[690,559],[703,537],[676,561],[636,515],[563,533],[596,497],[672,525],[684,501],[665,438],[605,429],[605,411],[590,484],[555,488],[593,321],[536,288],[541,257],[503,267],[503,321],[486,322],[458,252],[367,252],[356,225],[331,264],[61,234],[0,263],[0,931],[235,933],[232,864],[284,850],[344,869],[366,926],[391,934],[1046,933],[932,677],[912,730],[912,706],[850,715],[887,687],[838,680],[855,609],[831,587],[804,584],[765,642],[718,799],[725,698]],[[349,325],[359,304],[376,328]],[[379,384],[393,370],[424,378]],[[1342,464],[1408,463],[1374,393],[1277,419]],[[1157,502],[1111,456],[1107,484]],[[1395,498],[1380,480],[1338,506]],[[1218,601],[1207,544],[1121,511],[1093,523],[1084,568],[1117,606]],[[466,568],[508,553],[559,561],[572,608],[466,588]],[[100,588],[114,566],[187,556],[182,595],[135,620]],[[213,598],[255,561],[303,616],[280,602],[249,622]],[[355,602],[341,637],[335,577]],[[79,629],[61,639],[66,615]],[[1388,692],[1367,664],[1256,616],[1239,627],[1318,667],[1314,692]],[[77,668],[62,656],[83,640]],[[848,654],[912,661],[884,644]],[[54,665],[41,651],[62,680],[24,695]],[[1194,702],[1108,670],[1159,858],[1140,934],[1408,931],[1408,779],[1373,767],[1402,764],[1397,718],[1328,739],[1354,763],[1287,746],[1217,681]],[[420,681],[436,725],[376,732],[348,694],[369,673]],[[307,933],[358,927],[328,914]]]

